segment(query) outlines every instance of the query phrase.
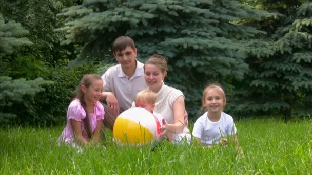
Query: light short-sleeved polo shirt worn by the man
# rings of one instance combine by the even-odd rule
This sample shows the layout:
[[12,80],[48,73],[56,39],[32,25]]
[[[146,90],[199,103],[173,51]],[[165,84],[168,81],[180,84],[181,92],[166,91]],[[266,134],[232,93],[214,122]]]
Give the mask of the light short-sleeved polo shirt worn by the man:
[[144,64],[136,60],[136,68],[132,77],[127,77],[120,64],[110,67],[102,76],[103,91],[111,92],[118,100],[122,110],[131,108],[135,95],[145,90]]

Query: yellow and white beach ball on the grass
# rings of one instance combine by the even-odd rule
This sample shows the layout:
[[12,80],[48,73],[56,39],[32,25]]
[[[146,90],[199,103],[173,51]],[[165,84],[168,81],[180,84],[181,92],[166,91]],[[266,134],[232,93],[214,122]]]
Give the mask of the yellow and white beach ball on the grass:
[[119,143],[148,143],[157,135],[157,122],[154,115],[144,108],[130,108],[116,118],[113,137]]

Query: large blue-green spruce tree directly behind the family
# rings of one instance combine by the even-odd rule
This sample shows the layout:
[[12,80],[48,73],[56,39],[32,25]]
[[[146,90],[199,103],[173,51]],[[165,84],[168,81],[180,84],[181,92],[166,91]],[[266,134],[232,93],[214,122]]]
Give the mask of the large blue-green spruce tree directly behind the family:
[[166,81],[184,92],[192,115],[206,82],[220,81],[229,90],[232,79],[242,79],[248,70],[246,54],[238,52],[246,42],[240,41],[264,32],[237,21],[265,16],[229,0],[86,0],[60,15],[67,17],[60,29],[68,32],[64,43],[83,46],[77,62],[111,54],[111,43],[120,35],[134,39],[141,61],[154,53],[164,55]]

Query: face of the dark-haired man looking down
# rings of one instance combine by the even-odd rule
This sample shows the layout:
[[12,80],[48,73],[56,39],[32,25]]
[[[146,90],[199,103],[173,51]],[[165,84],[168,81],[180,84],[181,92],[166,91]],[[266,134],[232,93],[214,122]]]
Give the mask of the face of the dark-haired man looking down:
[[135,58],[137,53],[137,49],[132,49],[131,46],[127,46],[126,49],[115,51],[113,54],[123,69],[135,69]]

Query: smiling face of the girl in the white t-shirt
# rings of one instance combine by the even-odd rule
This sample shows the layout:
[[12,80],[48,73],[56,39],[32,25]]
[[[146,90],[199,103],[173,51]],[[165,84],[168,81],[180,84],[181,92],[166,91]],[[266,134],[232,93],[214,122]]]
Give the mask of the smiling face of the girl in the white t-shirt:
[[208,113],[221,113],[226,104],[226,99],[221,88],[211,87],[205,91],[203,106],[206,108]]

